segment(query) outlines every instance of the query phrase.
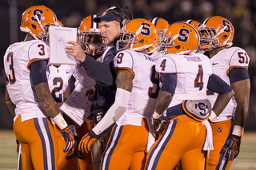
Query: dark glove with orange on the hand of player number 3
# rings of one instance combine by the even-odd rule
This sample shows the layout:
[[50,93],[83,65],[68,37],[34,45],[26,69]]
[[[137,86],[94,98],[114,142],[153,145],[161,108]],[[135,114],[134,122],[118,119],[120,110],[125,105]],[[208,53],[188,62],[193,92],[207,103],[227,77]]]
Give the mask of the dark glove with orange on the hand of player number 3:
[[70,151],[74,148],[74,135],[70,131],[70,127],[67,126],[66,128],[61,129],[63,140],[65,141],[66,145],[63,149],[64,152]]

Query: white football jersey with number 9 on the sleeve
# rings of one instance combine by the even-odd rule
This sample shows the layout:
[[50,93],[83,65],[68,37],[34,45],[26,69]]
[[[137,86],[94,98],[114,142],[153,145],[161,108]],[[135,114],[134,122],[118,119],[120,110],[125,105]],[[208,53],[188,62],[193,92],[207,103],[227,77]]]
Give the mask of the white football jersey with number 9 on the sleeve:
[[140,126],[142,118],[151,119],[160,89],[154,64],[149,55],[131,49],[123,50],[114,57],[116,69],[127,69],[134,74],[127,110],[117,121],[118,125]]

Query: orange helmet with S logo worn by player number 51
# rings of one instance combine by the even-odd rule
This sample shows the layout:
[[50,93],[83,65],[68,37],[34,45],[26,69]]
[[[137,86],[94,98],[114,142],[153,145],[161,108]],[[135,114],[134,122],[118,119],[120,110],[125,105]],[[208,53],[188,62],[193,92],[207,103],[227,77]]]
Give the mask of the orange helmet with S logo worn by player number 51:
[[233,45],[234,26],[221,16],[207,18],[198,28],[201,39],[201,49],[210,51],[215,47],[230,47]]

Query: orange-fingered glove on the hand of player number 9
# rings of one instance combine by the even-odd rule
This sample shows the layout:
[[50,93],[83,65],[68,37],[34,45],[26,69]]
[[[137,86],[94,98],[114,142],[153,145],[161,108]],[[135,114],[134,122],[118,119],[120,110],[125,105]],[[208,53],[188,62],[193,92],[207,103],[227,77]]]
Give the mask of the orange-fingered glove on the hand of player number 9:
[[82,137],[82,140],[79,142],[78,151],[81,151],[83,154],[90,152],[90,146],[94,144],[94,141],[98,138],[98,135],[94,131],[90,130],[85,136]]

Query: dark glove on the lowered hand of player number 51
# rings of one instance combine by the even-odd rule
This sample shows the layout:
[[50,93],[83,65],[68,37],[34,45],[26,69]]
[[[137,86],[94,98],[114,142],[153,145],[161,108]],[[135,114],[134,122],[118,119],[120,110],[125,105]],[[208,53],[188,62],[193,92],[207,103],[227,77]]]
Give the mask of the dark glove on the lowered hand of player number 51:
[[227,160],[234,160],[239,154],[241,143],[241,136],[231,135],[227,140],[226,144],[224,144],[221,153],[223,153],[223,157]]

